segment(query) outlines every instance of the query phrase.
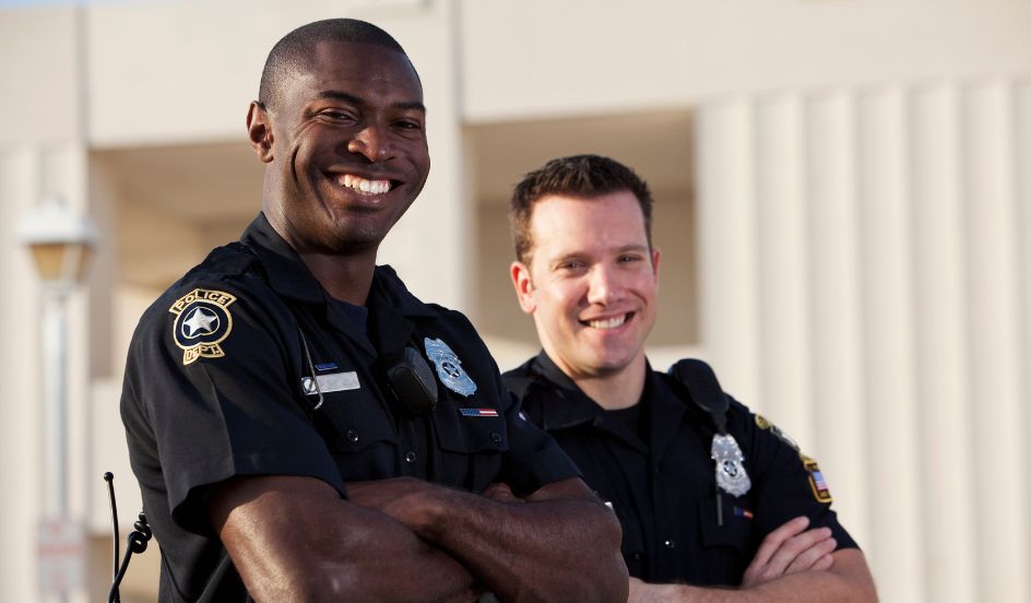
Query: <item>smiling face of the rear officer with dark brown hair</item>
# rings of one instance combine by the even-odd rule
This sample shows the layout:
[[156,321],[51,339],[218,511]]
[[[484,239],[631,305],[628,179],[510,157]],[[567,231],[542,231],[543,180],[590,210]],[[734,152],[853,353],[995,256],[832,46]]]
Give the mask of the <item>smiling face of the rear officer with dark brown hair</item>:
[[514,262],[511,276],[547,355],[573,380],[642,368],[659,250],[637,198],[547,196],[533,205],[530,232],[529,265]]

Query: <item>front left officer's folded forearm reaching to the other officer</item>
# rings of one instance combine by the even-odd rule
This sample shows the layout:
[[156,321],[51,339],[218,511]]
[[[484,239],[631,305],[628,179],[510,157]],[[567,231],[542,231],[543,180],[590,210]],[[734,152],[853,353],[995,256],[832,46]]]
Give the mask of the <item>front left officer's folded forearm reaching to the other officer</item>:
[[477,496],[404,477],[347,489],[461,561],[502,601],[626,601],[619,522],[580,478],[524,499],[505,486]]

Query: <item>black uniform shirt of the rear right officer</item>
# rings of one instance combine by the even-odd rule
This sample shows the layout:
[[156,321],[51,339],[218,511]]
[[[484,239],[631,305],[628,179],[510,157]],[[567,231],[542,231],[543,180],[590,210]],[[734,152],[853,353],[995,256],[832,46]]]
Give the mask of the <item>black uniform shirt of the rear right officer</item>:
[[543,352],[503,379],[522,397],[525,416],[558,441],[616,511],[630,576],[740,584],[762,537],[797,516],[829,527],[839,548],[856,546],[830,508],[816,462],[736,401],[726,427],[744,452],[751,488],[739,497],[721,490],[718,510],[712,417],[682,400],[678,393],[689,394],[668,376],[649,368],[638,433],[588,398]]

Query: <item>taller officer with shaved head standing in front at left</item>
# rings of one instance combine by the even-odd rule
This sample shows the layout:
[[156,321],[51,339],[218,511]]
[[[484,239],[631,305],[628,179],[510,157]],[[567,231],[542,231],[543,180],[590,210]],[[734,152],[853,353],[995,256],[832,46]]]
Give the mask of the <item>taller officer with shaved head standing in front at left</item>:
[[624,600],[619,525],[519,418],[470,322],[376,251],[429,170],[398,43],[273,48],[262,212],[143,316],[122,394],[162,601]]

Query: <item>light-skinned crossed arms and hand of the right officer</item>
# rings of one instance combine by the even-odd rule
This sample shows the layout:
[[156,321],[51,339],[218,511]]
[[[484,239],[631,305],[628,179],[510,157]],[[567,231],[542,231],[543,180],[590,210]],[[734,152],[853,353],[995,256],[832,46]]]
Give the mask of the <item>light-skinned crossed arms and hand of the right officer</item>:
[[745,570],[740,589],[648,584],[630,579],[630,603],[793,602],[875,603],[874,579],[863,553],[834,551],[827,528],[806,530],[795,518],[767,534]]

